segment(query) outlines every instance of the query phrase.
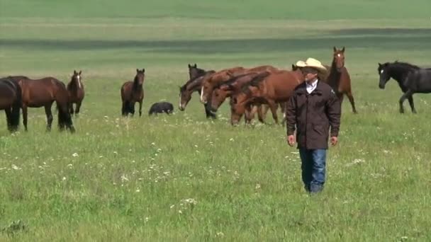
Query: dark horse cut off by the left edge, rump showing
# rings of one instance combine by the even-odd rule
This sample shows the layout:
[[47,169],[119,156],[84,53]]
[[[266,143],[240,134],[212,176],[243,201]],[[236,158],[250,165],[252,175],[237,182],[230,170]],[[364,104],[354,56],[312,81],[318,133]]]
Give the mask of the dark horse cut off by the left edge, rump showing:
[[9,132],[15,132],[19,127],[19,117],[22,105],[21,86],[9,77],[0,79],[0,110],[6,113]]

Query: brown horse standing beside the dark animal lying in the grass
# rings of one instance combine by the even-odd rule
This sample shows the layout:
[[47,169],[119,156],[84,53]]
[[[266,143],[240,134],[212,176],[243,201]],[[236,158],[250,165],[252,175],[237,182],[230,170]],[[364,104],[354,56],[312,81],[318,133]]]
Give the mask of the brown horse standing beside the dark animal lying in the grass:
[[145,80],[145,69],[140,71],[136,69],[136,76],[133,81],[126,81],[121,86],[121,101],[123,106],[121,113],[127,116],[129,113],[133,116],[135,114],[135,103],[139,103],[139,116],[142,115],[142,100],[144,99],[144,88],[142,85]]

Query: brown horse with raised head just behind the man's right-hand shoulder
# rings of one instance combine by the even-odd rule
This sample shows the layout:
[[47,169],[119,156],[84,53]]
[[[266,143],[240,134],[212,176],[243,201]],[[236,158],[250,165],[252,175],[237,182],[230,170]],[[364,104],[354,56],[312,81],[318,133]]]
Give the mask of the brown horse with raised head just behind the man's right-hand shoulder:
[[337,94],[337,97],[340,99],[340,103],[342,103],[343,96],[346,95],[352,105],[353,113],[357,113],[352,96],[350,75],[345,67],[345,47],[342,47],[342,50],[337,50],[337,48],[334,47],[332,64],[329,70],[330,72],[326,83],[335,91],[335,94]]

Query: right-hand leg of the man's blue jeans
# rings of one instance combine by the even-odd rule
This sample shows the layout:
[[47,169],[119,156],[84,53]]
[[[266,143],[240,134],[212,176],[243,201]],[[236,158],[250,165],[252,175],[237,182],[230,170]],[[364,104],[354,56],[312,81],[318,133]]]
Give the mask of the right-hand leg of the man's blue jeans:
[[314,149],[311,155],[313,156],[313,168],[310,192],[320,192],[325,184],[326,149]]

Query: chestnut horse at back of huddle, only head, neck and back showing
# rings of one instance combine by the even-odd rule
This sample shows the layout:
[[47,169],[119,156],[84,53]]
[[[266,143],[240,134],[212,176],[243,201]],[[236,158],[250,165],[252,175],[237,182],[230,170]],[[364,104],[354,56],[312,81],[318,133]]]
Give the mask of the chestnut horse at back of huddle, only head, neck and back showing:
[[262,71],[278,71],[278,69],[272,66],[260,66],[250,69],[245,69],[244,67],[233,67],[230,69],[223,69],[221,71],[215,72],[215,74],[206,77],[202,81],[201,103],[208,102],[209,98],[211,97],[211,93],[213,92],[214,86],[216,86],[218,83],[223,83],[231,79],[233,76],[246,74],[247,72]]

